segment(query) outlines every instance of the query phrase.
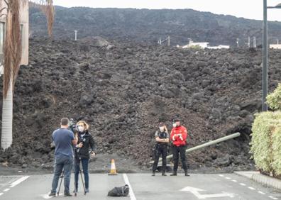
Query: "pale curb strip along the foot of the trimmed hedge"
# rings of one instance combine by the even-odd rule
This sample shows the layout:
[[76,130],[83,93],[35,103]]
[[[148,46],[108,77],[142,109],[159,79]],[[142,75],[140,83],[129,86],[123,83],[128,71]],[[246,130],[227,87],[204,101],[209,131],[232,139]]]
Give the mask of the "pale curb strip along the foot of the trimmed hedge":
[[234,172],[234,174],[238,174],[242,177],[252,179],[253,181],[266,185],[268,187],[274,187],[275,189],[281,190],[280,179],[275,179],[273,177],[265,176],[263,174],[260,174],[260,172],[246,171],[246,172]]

